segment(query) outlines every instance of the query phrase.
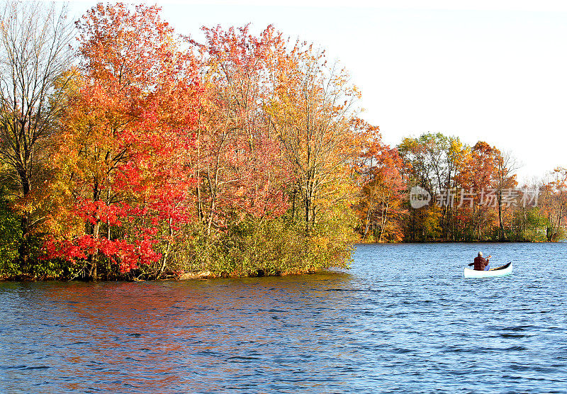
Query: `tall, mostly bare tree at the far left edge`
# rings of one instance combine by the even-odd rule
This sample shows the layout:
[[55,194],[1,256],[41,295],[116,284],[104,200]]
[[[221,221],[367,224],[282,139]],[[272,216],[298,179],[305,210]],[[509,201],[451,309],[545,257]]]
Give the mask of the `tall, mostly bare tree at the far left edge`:
[[[73,26],[67,5],[6,1],[0,33],[0,160],[14,194],[25,201],[38,179],[43,142],[56,130],[62,109]],[[24,235],[34,221],[24,209]]]

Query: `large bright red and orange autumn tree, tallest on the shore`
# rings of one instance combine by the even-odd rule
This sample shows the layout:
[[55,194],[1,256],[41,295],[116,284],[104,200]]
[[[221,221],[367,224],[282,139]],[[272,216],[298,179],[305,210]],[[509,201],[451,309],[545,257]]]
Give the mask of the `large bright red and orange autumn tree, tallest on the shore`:
[[159,276],[179,221],[191,220],[196,69],[155,6],[99,4],[77,28],[79,89],[53,158],[53,187],[74,203],[52,220],[75,225],[47,247],[87,278],[99,259],[122,272],[161,259]]

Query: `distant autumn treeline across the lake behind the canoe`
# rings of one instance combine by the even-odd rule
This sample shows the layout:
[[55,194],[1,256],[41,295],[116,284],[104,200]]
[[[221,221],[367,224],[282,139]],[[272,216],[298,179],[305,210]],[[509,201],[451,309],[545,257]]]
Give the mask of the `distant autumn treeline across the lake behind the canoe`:
[[408,137],[394,150],[370,150],[365,157],[364,186],[354,206],[364,240],[540,242],[565,237],[567,169],[519,185],[510,154],[481,141],[464,145],[441,133]]

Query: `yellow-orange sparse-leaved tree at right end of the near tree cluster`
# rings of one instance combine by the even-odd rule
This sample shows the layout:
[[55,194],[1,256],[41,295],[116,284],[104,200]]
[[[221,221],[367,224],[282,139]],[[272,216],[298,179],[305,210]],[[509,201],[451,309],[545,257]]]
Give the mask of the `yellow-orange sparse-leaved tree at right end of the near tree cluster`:
[[345,69],[328,64],[325,53],[309,45],[296,45],[291,56],[293,67],[279,75],[270,115],[292,166],[293,193],[301,199],[309,233],[319,215],[352,196],[366,123],[357,116],[360,94]]

